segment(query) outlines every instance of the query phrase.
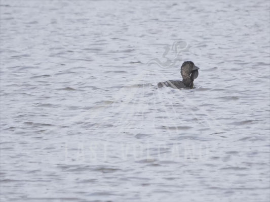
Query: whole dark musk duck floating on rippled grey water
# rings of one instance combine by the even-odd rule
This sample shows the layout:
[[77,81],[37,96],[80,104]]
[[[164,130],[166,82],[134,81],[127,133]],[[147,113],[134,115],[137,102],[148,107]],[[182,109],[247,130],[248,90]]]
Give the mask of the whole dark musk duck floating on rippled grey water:
[[200,68],[197,67],[191,61],[185,61],[181,66],[181,75],[183,80],[169,80],[165,82],[159,82],[158,87],[168,86],[172,88],[193,88],[193,81],[199,75]]

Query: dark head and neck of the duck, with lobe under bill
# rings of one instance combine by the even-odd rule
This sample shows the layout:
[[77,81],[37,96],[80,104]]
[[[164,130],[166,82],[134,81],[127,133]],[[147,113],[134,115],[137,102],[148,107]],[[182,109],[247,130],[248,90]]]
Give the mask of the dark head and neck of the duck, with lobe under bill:
[[193,81],[196,79],[199,75],[200,68],[197,67],[193,62],[191,61],[185,61],[181,66],[181,75],[183,78],[183,83],[192,88],[193,87]]

